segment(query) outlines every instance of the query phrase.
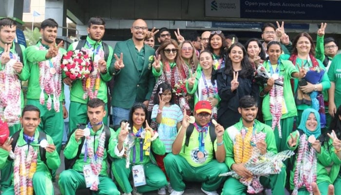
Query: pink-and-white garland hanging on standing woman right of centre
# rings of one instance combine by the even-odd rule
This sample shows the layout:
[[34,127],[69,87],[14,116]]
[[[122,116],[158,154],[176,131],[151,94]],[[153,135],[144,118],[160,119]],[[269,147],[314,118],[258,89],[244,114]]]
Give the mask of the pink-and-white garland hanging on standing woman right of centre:
[[[283,76],[279,76],[277,81],[283,83]],[[273,85],[269,91],[269,101],[270,101],[270,113],[272,116],[271,128],[275,130],[276,126],[278,129],[278,135],[282,138],[282,128],[281,128],[281,118],[282,118],[282,104],[283,98],[283,86]]]

